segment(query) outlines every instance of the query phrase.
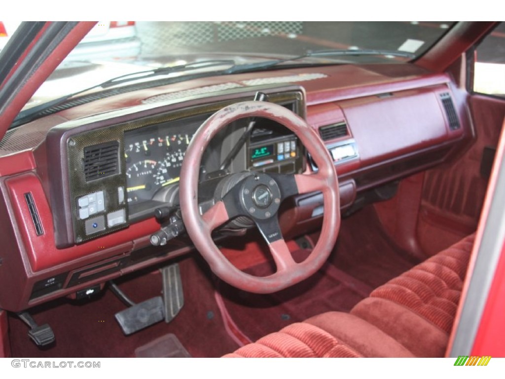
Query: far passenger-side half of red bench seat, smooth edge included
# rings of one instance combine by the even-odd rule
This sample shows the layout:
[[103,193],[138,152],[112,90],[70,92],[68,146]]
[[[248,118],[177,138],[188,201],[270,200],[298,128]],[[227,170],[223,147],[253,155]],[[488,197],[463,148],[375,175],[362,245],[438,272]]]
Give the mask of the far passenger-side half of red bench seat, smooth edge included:
[[420,357],[443,357],[475,235],[413,267],[362,300],[351,314]]

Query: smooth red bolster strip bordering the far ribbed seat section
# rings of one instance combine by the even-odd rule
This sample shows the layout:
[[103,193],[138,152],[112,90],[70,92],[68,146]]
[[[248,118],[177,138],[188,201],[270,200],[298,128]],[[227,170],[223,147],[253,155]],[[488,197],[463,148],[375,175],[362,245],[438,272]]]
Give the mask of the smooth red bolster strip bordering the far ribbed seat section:
[[367,298],[352,308],[351,314],[375,325],[417,357],[443,357],[445,354],[448,334],[403,305]]

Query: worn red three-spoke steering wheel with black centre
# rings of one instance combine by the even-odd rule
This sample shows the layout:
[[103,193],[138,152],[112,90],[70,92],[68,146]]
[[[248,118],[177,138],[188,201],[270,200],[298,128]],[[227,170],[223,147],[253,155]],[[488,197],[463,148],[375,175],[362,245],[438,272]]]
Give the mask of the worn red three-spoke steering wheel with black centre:
[[[315,174],[251,173],[203,215],[198,207],[198,173],[201,157],[216,133],[229,123],[246,117],[264,117],[293,131],[318,166]],[[323,193],[324,217],[321,235],[309,257],[296,263],[282,237],[277,210],[283,199],[315,191]],[[249,101],[216,112],[196,131],[184,156],[180,178],[182,218],[194,246],[211,270],[230,285],[244,291],[266,294],[285,289],[314,274],[327,260],[340,227],[338,180],[333,160],[316,132],[305,120],[273,103]],[[249,275],[231,264],[212,240],[214,229],[236,216],[248,216],[260,229],[276,264],[270,276]]]

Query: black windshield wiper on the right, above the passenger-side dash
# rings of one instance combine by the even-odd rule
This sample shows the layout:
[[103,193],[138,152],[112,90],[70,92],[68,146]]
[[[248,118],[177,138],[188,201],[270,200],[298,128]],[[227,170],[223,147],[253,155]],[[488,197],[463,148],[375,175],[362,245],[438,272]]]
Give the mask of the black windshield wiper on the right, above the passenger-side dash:
[[[292,58],[285,58],[285,59],[275,59],[272,61],[264,61],[264,62],[259,62],[259,63],[250,63],[250,64],[241,64],[241,65],[234,65],[230,67],[229,69],[225,70],[227,74],[237,74],[240,72],[247,72],[247,71],[256,71],[256,70],[264,70],[266,68],[278,66],[282,63],[285,62],[294,62],[298,61],[304,58],[313,58],[313,57],[345,57],[345,56],[392,56],[392,57],[401,57],[401,58],[409,58],[409,59],[414,59],[416,58],[416,55],[413,53],[408,53],[408,52],[401,52],[397,50],[374,50],[374,49],[358,49],[358,50],[316,50],[316,51],[308,51],[306,54],[299,55],[296,57]],[[318,63],[320,64],[320,63]],[[334,64],[332,62],[331,64]]]

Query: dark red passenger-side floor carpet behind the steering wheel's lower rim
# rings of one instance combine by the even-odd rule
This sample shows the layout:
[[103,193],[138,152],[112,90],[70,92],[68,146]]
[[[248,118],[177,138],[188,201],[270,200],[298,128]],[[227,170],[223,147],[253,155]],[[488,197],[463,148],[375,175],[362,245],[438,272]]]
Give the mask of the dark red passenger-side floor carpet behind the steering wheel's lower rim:
[[[317,242],[318,235],[311,238]],[[388,240],[375,212],[368,207],[342,220],[328,263],[304,282],[272,295],[237,291],[223,282],[219,287],[237,327],[249,339],[257,340],[319,313],[348,312],[374,288],[417,263]],[[263,263],[247,271],[265,275],[269,268]]]

